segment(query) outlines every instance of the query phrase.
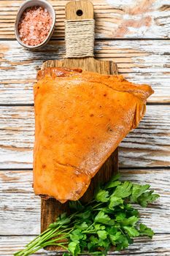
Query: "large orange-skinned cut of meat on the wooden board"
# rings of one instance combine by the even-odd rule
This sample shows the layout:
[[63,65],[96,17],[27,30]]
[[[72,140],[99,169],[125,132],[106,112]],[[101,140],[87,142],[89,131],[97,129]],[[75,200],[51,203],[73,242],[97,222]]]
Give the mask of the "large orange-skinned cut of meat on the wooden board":
[[150,86],[121,75],[47,68],[34,85],[34,192],[78,200],[145,113]]

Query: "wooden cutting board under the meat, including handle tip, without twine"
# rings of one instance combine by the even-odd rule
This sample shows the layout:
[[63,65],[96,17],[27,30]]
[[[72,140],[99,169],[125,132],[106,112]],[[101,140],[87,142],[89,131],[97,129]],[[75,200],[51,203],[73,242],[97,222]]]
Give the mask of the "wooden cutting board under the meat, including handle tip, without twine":
[[[82,10],[82,15],[77,15],[77,10]],[[71,1],[66,4],[66,19],[89,19],[93,18],[93,4],[90,1]],[[56,41],[57,43],[57,41]],[[86,71],[98,72],[101,74],[117,74],[117,65],[113,61],[98,61],[93,57],[86,57],[81,59],[63,59],[63,60],[49,60],[45,61],[42,69],[46,67],[69,67],[81,68]],[[109,178],[114,173],[117,173],[117,149],[112,156],[107,159],[107,162],[101,167],[96,176],[92,179],[90,187],[85,195],[81,198],[82,201],[89,201],[93,197],[94,189],[98,183],[109,181]],[[68,203],[60,203],[57,200],[50,198],[48,200],[42,199],[41,205],[41,230],[47,229],[50,223],[55,222],[56,217],[64,211],[69,211]],[[49,250],[58,250],[58,247],[49,246]],[[61,250],[61,249],[60,249]]]

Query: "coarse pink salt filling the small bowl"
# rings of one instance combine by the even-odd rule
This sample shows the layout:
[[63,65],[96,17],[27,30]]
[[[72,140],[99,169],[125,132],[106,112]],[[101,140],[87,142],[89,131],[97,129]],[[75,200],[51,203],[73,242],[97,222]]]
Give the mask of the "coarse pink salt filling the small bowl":
[[18,24],[19,36],[26,45],[39,45],[47,38],[52,26],[52,18],[43,7],[27,8]]

